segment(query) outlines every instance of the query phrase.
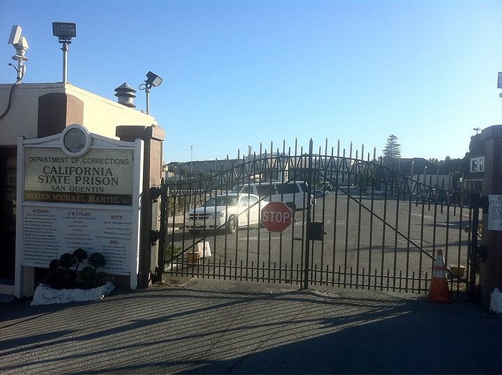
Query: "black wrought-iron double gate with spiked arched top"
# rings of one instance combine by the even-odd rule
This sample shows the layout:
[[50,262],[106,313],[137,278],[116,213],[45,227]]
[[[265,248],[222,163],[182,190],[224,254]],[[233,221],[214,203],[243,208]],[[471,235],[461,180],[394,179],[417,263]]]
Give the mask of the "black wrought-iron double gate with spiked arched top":
[[[324,151],[314,152],[312,141],[306,152],[283,144],[200,166],[189,164],[162,185],[160,259],[169,275],[427,293],[442,248],[450,291],[476,291],[478,196],[446,189],[451,176],[416,176],[413,165],[386,163],[375,151],[370,158],[363,148],[340,151],[340,142],[328,149],[328,141]],[[271,193],[274,186],[288,193]],[[238,197],[262,193],[234,217],[235,232],[233,207],[193,211],[235,197],[232,189]],[[303,207],[291,204],[291,194]],[[251,219],[277,200],[294,211],[282,233]]]

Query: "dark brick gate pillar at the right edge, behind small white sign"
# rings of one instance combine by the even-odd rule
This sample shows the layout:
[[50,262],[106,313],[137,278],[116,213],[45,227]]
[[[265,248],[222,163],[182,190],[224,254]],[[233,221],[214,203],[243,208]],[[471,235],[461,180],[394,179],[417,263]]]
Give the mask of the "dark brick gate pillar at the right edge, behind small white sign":
[[[502,125],[482,130],[485,149],[485,185],[483,195],[502,194]],[[480,264],[482,305],[489,307],[490,294],[502,287],[502,231],[487,231],[487,210],[483,210],[483,243],[487,245],[485,263]]]

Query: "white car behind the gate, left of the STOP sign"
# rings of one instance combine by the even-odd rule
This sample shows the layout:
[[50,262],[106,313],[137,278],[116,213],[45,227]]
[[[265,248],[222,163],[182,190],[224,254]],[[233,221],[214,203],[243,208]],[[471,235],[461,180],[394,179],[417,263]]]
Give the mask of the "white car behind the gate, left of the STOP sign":
[[259,197],[254,194],[218,195],[185,214],[190,231],[224,229],[234,234],[239,227],[259,224]]

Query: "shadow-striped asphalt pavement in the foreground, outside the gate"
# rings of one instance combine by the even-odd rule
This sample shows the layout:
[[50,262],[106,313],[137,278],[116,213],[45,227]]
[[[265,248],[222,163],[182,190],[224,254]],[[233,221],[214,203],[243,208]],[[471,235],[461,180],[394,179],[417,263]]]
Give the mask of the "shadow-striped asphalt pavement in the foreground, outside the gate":
[[502,315],[462,299],[176,279],[0,302],[1,374],[501,374]]

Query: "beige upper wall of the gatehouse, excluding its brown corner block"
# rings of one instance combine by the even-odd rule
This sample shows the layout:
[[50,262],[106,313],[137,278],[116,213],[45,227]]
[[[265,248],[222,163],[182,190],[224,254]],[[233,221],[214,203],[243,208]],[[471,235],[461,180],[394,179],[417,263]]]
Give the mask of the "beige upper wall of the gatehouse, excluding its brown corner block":
[[[0,84],[0,114],[6,110],[12,84]],[[111,90],[114,93],[113,89]],[[71,84],[19,84],[8,114],[0,120],[0,146],[17,144],[20,135],[36,138],[38,131],[38,98],[47,93],[67,93],[84,102],[83,124],[89,132],[115,137],[119,125],[158,125],[153,116],[119,105],[113,100],[79,89]],[[70,125],[70,124],[67,124]]]

